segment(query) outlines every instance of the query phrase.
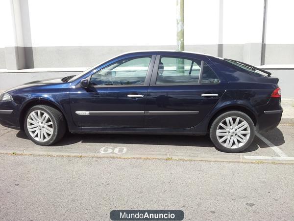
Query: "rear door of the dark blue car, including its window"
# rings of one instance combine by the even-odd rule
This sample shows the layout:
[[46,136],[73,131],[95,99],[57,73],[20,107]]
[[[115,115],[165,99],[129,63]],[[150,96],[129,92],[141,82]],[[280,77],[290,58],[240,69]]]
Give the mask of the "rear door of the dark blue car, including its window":
[[199,58],[156,56],[147,93],[146,128],[191,128],[216,105],[227,82],[211,69],[206,56]]

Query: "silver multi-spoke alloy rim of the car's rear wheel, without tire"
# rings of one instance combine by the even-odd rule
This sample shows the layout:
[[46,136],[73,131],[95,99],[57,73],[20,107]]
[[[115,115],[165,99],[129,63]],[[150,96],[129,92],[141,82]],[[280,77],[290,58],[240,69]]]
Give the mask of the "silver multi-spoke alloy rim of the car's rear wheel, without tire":
[[217,127],[217,138],[226,148],[239,148],[250,137],[249,124],[241,117],[231,116],[221,121]]

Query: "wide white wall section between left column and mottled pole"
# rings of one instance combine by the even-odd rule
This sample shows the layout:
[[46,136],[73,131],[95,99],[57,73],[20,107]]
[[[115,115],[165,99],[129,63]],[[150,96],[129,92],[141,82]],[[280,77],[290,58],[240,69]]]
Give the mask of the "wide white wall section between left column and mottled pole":
[[32,45],[174,45],[175,10],[175,0],[29,0]]

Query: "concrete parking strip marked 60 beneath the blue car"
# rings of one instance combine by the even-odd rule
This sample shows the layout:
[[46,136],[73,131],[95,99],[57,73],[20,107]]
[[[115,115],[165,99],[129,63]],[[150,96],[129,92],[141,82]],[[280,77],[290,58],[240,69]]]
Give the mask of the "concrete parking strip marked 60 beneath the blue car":
[[294,163],[294,126],[255,137],[242,153],[223,153],[208,136],[67,134],[53,146],[38,146],[24,132],[0,126],[0,153],[75,157],[149,158],[233,162]]

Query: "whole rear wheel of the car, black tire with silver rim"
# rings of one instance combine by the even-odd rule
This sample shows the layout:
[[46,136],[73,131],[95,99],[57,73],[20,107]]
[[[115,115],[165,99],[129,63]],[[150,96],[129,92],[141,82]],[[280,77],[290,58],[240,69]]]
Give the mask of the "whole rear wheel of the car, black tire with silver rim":
[[216,149],[228,153],[238,153],[248,148],[252,143],[255,136],[255,126],[252,119],[244,112],[228,111],[213,121],[209,135]]

